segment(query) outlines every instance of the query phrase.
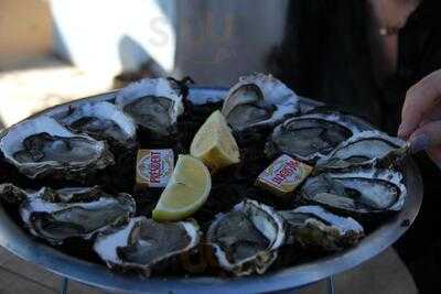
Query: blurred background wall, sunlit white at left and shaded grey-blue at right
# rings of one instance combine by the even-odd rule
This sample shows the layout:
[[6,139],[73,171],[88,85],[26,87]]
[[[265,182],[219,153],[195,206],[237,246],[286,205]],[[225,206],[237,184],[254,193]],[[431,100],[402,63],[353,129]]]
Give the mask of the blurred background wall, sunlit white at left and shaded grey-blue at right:
[[57,52],[116,75],[153,59],[164,74],[229,85],[266,72],[288,0],[51,0]]

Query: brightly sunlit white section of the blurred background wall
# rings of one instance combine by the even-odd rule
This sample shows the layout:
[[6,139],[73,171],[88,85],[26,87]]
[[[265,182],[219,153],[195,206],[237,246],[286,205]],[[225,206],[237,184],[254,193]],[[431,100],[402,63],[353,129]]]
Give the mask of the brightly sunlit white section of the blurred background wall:
[[51,0],[51,6],[56,52],[78,67],[117,75],[154,58],[173,69],[174,0]]

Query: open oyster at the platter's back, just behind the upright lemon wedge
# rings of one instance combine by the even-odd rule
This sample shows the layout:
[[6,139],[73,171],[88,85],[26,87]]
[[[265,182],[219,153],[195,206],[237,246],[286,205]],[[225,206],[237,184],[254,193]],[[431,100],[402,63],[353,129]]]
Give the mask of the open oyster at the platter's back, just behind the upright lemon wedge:
[[241,77],[227,94],[222,113],[236,131],[272,128],[299,112],[299,98],[271,75]]

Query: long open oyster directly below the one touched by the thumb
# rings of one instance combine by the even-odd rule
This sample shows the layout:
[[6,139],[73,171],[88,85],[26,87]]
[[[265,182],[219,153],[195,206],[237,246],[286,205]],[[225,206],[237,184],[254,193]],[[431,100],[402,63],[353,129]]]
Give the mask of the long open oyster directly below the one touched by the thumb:
[[310,177],[300,194],[305,200],[346,211],[399,211],[407,195],[401,182],[398,171],[362,166]]

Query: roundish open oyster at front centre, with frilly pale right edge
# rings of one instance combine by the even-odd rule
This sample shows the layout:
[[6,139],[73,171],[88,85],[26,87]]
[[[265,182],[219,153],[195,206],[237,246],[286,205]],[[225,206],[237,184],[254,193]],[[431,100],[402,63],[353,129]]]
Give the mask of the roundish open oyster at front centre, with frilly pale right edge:
[[236,276],[262,274],[284,242],[281,217],[269,206],[244,200],[209,226],[206,242],[216,264]]

